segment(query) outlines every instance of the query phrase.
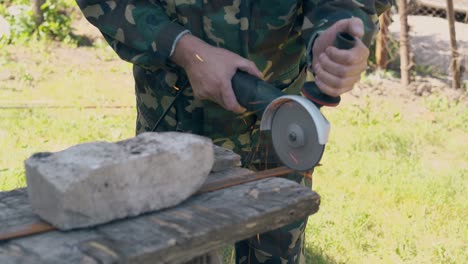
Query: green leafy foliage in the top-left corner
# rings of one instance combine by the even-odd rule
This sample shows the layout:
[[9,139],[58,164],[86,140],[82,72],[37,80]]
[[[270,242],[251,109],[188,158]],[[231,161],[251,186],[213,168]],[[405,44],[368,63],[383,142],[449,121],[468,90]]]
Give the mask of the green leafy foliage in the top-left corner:
[[10,24],[11,34],[9,38],[3,37],[1,42],[3,44],[27,43],[31,40],[74,42],[70,15],[72,4],[74,3],[70,0],[46,1],[41,6],[44,22],[37,26],[29,1],[17,0],[6,3],[0,8],[0,15]]

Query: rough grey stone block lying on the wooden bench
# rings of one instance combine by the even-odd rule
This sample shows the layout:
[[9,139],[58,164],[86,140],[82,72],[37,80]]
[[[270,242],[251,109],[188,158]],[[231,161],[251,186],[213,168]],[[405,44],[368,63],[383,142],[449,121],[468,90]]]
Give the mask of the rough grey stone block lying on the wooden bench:
[[93,142],[25,161],[31,206],[67,230],[174,206],[206,180],[210,139],[177,132]]

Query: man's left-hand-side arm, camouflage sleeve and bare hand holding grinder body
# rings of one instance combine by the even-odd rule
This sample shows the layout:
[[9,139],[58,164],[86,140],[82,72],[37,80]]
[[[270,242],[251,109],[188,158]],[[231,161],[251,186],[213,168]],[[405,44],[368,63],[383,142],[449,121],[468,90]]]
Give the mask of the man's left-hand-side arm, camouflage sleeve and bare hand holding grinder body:
[[76,1],[122,59],[150,69],[180,66],[195,97],[212,100],[230,111],[243,111],[231,79],[238,69],[260,76],[253,62],[185,34],[188,31],[170,20],[159,1]]

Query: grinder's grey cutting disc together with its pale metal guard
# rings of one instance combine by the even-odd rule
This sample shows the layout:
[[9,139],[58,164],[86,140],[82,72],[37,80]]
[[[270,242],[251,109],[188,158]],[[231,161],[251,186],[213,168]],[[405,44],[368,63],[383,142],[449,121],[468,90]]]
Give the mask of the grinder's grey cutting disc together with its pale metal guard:
[[266,107],[260,130],[270,130],[275,152],[286,166],[307,171],[322,158],[330,123],[306,98],[285,95]]

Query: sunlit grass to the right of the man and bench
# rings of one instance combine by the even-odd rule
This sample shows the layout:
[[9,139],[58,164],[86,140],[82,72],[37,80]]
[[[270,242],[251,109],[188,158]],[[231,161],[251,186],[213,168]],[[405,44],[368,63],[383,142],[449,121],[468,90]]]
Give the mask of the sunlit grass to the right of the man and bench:
[[436,96],[422,107],[430,120],[382,99],[327,111],[310,263],[467,263],[468,111]]

